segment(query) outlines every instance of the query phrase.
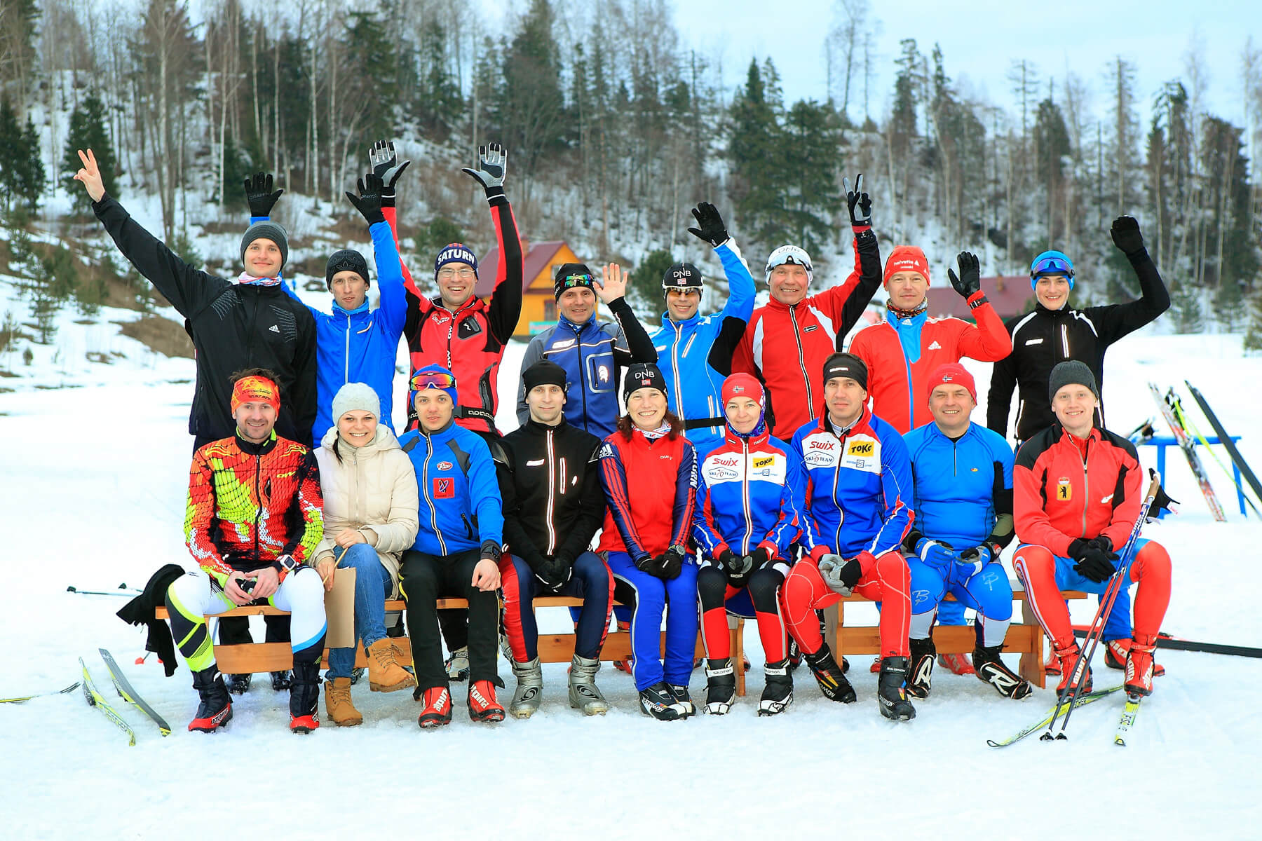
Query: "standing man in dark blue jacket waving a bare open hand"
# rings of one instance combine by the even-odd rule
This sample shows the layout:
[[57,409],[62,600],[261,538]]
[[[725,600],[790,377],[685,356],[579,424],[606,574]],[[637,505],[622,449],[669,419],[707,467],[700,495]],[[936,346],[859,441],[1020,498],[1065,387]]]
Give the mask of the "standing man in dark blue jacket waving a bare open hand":
[[[530,339],[521,372],[540,359],[565,369],[565,421],[603,439],[618,421],[622,368],[632,362],[656,362],[652,339],[627,304],[622,267],[610,264],[597,281],[592,270],[567,262],[553,279],[557,324]],[[610,308],[613,323],[596,319],[596,296]],[[530,420],[525,386],[517,388],[517,422]]]

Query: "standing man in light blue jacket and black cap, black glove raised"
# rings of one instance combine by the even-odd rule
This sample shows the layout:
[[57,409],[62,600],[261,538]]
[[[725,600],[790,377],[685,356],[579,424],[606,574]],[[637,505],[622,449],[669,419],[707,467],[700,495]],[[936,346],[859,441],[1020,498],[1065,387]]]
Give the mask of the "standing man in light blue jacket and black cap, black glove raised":
[[[708,242],[723,264],[728,299],[722,310],[699,315],[702,275],[690,262],[676,262],[661,279],[666,311],[652,334],[658,368],[670,386],[670,410],[684,422],[684,435],[698,454],[723,443],[723,378],[753,313],[753,276],[728,236],[723,217],[709,202],[693,211],[698,227],[689,233]],[[685,387],[687,386],[687,387]]]

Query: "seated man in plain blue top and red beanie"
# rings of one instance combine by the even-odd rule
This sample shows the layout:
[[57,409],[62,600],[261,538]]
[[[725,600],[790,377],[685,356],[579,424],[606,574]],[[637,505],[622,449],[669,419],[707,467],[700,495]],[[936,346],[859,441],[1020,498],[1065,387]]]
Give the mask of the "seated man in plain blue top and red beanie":
[[977,677],[1000,695],[1022,699],[1030,685],[1000,658],[1012,619],[1012,586],[1000,551],[1012,540],[1012,449],[969,420],[977,386],[959,363],[928,381],[933,421],[906,435],[915,483],[916,527],[907,533],[911,570],[911,676],[907,693],[928,697],[936,651],[934,615],[950,593],[977,610]]

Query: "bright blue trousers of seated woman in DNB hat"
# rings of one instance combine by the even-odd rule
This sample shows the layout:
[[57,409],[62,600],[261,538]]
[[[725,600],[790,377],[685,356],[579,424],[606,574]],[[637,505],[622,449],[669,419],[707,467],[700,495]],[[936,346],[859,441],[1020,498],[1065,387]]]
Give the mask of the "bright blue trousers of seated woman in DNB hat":
[[[631,671],[636,690],[663,680],[687,686],[697,652],[697,564],[687,559],[679,577],[663,581],[636,569],[626,552],[610,552],[610,569],[618,600],[632,605]],[[663,613],[666,614],[664,659],[659,657]]]

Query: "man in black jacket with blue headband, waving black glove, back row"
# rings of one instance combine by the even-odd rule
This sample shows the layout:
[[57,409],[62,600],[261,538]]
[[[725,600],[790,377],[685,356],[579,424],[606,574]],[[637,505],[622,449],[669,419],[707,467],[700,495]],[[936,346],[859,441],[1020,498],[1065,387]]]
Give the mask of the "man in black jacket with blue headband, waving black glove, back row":
[[[1047,400],[1047,378],[1058,363],[1066,359],[1087,363],[1103,392],[1108,347],[1170,309],[1170,293],[1143,247],[1140,223],[1119,216],[1109,233],[1140,280],[1140,300],[1071,309],[1068,303],[1074,287],[1074,264],[1059,251],[1044,251],[1035,257],[1030,285],[1037,304],[1034,311],[1006,323],[1012,353],[996,362],[991,373],[986,425],[1000,435],[1007,434],[1013,388],[1020,396],[1015,436],[1025,441],[1056,420]],[[1103,403],[1097,412],[1095,425],[1104,429]]]

